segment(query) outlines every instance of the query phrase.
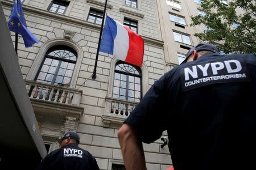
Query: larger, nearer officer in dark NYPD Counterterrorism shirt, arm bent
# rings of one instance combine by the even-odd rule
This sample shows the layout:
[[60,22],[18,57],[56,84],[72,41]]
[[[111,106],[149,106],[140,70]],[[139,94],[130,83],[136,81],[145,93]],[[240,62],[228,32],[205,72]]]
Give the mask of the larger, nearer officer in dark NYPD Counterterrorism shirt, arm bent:
[[255,81],[255,54],[223,56],[207,43],[189,50],[119,129],[126,169],[146,169],[142,142],[154,142],[164,130],[175,170],[253,169]]

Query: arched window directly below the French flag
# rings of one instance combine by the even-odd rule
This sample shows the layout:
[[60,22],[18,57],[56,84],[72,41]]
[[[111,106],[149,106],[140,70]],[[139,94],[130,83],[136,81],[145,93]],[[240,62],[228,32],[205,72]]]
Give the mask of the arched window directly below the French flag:
[[141,100],[141,78],[139,67],[121,61],[117,62],[114,73],[113,97],[129,101]]

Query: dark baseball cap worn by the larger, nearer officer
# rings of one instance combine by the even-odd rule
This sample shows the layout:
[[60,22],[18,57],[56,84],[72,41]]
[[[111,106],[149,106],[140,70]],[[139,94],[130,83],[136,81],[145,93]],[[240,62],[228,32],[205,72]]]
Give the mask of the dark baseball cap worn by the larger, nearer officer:
[[196,52],[210,51],[210,52],[213,52],[213,53],[219,53],[216,45],[209,44],[209,43],[206,43],[206,42],[201,42],[201,43],[197,44],[197,46],[192,47],[191,49],[188,50],[188,53],[186,54],[186,58],[183,62],[181,62],[181,64],[187,62],[189,56],[192,54],[192,50],[196,50]]

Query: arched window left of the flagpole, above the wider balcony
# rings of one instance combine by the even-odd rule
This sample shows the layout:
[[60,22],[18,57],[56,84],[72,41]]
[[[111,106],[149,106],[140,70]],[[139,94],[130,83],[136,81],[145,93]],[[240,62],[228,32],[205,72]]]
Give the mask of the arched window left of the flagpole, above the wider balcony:
[[69,87],[76,61],[77,53],[72,48],[63,45],[53,46],[47,51],[35,80]]

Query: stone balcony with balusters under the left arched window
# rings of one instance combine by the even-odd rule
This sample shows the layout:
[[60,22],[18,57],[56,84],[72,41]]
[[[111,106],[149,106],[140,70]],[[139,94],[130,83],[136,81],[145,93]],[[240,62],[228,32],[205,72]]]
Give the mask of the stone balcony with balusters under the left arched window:
[[84,112],[80,107],[81,90],[52,84],[24,80],[35,114],[66,119],[79,118]]

